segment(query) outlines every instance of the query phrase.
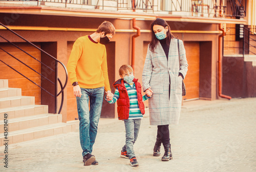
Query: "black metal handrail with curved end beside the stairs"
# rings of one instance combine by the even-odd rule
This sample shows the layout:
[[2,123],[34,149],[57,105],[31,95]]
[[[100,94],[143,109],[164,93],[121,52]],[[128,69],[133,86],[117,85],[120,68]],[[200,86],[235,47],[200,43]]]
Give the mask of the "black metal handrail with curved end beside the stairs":
[[[60,95],[61,93],[61,103],[60,103],[60,108],[59,108],[59,111],[58,111],[58,114],[61,112],[61,109],[62,109],[62,105],[63,105],[63,94],[64,94],[64,89],[66,88],[67,86],[67,83],[68,83],[68,71],[67,71],[67,68],[65,67],[65,65],[63,65],[63,63],[59,60],[57,60],[55,57],[53,57],[52,55],[50,55],[49,53],[47,53],[46,51],[40,49],[39,47],[37,47],[36,45],[34,45],[32,42],[30,42],[29,40],[25,39],[24,37],[20,36],[19,34],[17,34],[16,32],[14,32],[13,30],[9,29],[8,27],[6,27],[5,25],[3,25],[2,23],[0,23],[0,25],[2,25],[3,27],[5,27],[7,30],[9,30],[10,32],[12,32],[13,34],[15,34],[16,36],[22,38],[23,40],[25,40],[26,42],[28,42],[30,45],[32,45],[33,47],[35,47],[36,49],[38,49],[39,51],[47,54],[49,57],[51,57],[52,59],[54,59],[56,62],[60,63],[60,65],[63,67],[63,69],[65,70],[65,74],[66,74],[66,80],[65,80],[65,84],[62,86],[62,83],[60,81],[60,79],[57,77],[56,75],[56,81],[58,80],[59,84],[60,84],[60,92],[58,94],[57,93],[57,83],[55,83],[55,95],[52,95],[51,93],[49,93],[47,90],[45,90],[44,88],[40,87],[40,85],[38,85],[37,83],[35,83],[34,81],[32,81],[31,79],[29,79],[28,77],[26,77],[25,75],[23,75],[22,73],[18,72],[17,70],[15,70],[14,68],[12,68],[11,66],[9,66],[7,63],[5,63],[4,61],[2,61],[0,59],[0,61],[2,61],[5,65],[7,65],[8,67],[10,67],[11,69],[13,69],[14,71],[16,71],[17,73],[19,73],[20,75],[24,76],[25,78],[27,78],[29,81],[31,81],[32,83],[34,83],[35,85],[37,85],[39,88],[41,88],[42,90],[46,91],[48,94],[50,94],[51,96],[53,96],[55,98],[55,102],[57,101],[57,97]],[[3,36],[1,36],[2,38],[4,38]],[[5,40],[7,40],[6,38],[4,38]],[[11,43],[12,45],[14,45],[12,42],[10,42],[9,40],[7,40],[9,43]],[[22,50],[21,48],[17,47],[16,45],[14,45],[16,48],[18,48],[19,50],[25,52],[24,50]],[[2,48],[0,48],[2,49]],[[5,51],[4,49],[2,49],[3,51]],[[5,51],[8,55],[12,56],[13,58],[15,58],[16,60],[18,60],[19,62],[22,62],[20,61],[19,59],[17,59],[16,57],[14,57],[13,55],[11,55],[10,53],[8,53],[7,51]],[[31,56],[32,58],[36,59],[35,57],[33,57],[32,55],[30,55],[29,53],[25,52],[26,54],[28,54],[29,56]],[[36,59],[37,60],[37,59]],[[39,61],[39,60],[37,60]],[[44,63],[42,63],[41,61],[39,61],[41,64],[45,65]],[[22,62],[24,65],[26,65],[24,62]],[[56,63],[57,64],[57,63]],[[27,65],[26,65],[27,66]],[[48,67],[47,65],[45,65],[46,67]],[[34,72],[36,72],[37,74],[39,74],[37,71],[35,71],[34,69],[32,69],[31,67],[27,66],[28,68],[30,68],[31,70],[33,70]],[[50,68],[50,67],[48,67]],[[51,68],[50,68],[51,69]],[[56,68],[57,69],[57,65],[56,65]],[[52,70],[52,69],[51,69]],[[52,70],[54,71],[54,70]],[[55,73],[57,73],[57,70],[55,70]],[[41,74],[39,74],[40,76],[43,76]],[[45,76],[43,76],[45,77]],[[46,78],[46,77],[45,77]],[[48,79],[48,78],[47,78]],[[48,79],[49,80],[49,79]],[[50,81],[50,80],[49,80]],[[52,81],[50,81],[52,82]],[[54,82],[52,82],[54,83]],[[55,104],[57,106],[57,103]],[[55,113],[57,113],[57,107],[55,107]]]

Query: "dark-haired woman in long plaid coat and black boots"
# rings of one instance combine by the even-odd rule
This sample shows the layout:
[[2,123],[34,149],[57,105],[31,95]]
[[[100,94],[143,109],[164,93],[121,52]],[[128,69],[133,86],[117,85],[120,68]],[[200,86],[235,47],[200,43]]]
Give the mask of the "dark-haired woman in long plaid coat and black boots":
[[[169,124],[178,124],[182,99],[182,79],[187,73],[187,60],[182,40],[174,38],[165,20],[157,18],[151,24],[152,39],[147,48],[142,73],[143,91],[151,89],[149,99],[150,124],[157,125],[157,141],[153,156],[160,156],[163,143],[162,161],[172,159],[170,150]],[[180,66],[178,41],[180,50]]]

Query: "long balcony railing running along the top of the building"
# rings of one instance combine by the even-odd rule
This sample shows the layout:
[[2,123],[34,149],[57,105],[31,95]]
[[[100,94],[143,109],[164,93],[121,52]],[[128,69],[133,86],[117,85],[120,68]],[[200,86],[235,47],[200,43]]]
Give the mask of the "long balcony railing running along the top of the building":
[[204,17],[240,18],[246,15],[246,0],[0,0],[27,5],[63,8],[133,11]]

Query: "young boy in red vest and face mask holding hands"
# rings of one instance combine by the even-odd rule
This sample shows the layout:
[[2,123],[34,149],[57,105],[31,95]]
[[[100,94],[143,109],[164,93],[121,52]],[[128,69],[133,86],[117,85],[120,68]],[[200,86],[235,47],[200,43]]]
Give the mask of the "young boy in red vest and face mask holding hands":
[[130,65],[123,65],[119,69],[121,79],[113,83],[116,89],[114,97],[106,98],[109,103],[117,101],[118,119],[124,121],[125,145],[121,150],[122,158],[129,158],[131,166],[138,166],[139,163],[134,154],[133,145],[137,140],[140,122],[145,113],[143,101],[152,97],[153,91],[146,91],[142,97],[141,85],[138,79],[134,78],[133,68]]

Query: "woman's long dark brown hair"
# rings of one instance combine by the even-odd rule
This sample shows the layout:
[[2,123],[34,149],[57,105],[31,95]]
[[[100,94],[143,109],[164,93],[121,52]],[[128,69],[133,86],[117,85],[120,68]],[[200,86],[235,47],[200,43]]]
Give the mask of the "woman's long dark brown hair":
[[162,18],[157,18],[155,19],[152,23],[151,23],[151,26],[150,26],[150,29],[151,29],[151,42],[150,42],[150,50],[151,52],[154,52],[155,51],[155,48],[156,48],[156,45],[157,45],[157,41],[159,41],[154,33],[154,30],[153,30],[153,26],[154,25],[160,25],[160,26],[163,26],[164,28],[166,26],[168,26],[168,31],[166,32],[166,44],[169,46],[170,45],[170,39],[174,38],[174,35],[172,34],[172,32],[170,32],[170,27],[169,25],[167,24],[167,22],[165,22],[164,19]]

